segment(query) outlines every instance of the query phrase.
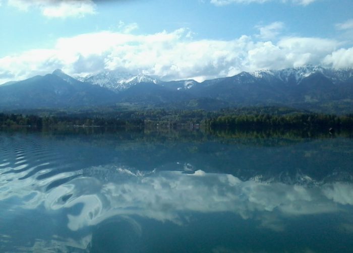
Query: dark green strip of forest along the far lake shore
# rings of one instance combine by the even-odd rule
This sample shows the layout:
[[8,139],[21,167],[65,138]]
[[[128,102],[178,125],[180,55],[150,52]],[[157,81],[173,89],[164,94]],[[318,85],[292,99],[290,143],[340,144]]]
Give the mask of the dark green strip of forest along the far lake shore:
[[0,113],[4,128],[30,127],[108,127],[108,128],[177,128],[187,126],[210,131],[233,129],[316,129],[353,128],[353,114],[332,115],[298,111],[286,107],[249,107],[205,110],[122,110],[109,113],[46,112],[37,114]]

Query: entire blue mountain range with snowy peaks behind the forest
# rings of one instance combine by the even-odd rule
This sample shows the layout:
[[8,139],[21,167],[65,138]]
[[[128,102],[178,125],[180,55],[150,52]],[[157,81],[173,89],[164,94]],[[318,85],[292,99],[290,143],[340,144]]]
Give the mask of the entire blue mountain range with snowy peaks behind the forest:
[[61,70],[0,85],[0,109],[57,109],[125,105],[215,110],[290,106],[326,113],[353,112],[353,69],[307,66],[197,82],[161,81],[107,71],[73,78]]

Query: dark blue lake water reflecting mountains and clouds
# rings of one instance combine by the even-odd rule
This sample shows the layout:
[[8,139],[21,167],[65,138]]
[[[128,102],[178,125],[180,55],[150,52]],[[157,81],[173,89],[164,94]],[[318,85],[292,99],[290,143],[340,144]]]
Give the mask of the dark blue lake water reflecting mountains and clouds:
[[353,141],[0,133],[0,252],[353,252]]

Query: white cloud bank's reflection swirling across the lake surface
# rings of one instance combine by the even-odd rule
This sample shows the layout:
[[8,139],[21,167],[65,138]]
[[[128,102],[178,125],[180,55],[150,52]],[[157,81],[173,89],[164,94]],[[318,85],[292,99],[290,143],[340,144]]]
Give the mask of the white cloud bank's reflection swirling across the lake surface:
[[[112,173],[112,169],[112,166],[89,168],[119,175],[118,182],[87,175],[47,192],[44,189],[52,180],[82,171],[57,174],[37,184],[30,178],[14,180],[11,187],[9,184],[0,187],[1,199],[17,196],[21,199],[18,203],[21,208],[35,209],[43,204],[48,211],[83,204],[79,214],[68,214],[68,227],[74,231],[115,215],[138,215],[182,224],[186,212],[233,212],[249,219],[266,212],[275,212],[278,217],[330,213],[344,210],[344,205],[353,205],[353,185],[342,182],[306,187],[241,181],[230,174],[202,170],[187,174],[181,171],[135,173],[126,168],[115,168]],[[10,175],[6,178],[10,179]]]

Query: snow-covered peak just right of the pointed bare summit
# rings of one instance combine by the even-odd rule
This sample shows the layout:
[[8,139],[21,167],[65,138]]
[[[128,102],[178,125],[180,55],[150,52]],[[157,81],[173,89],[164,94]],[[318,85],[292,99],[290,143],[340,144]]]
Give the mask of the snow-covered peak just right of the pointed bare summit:
[[133,75],[121,71],[105,71],[97,75],[79,77],[79,81],[99,85],[109,90],[119,92],[138,84],[138,83],[158,83],[158,80],[147,75]]

